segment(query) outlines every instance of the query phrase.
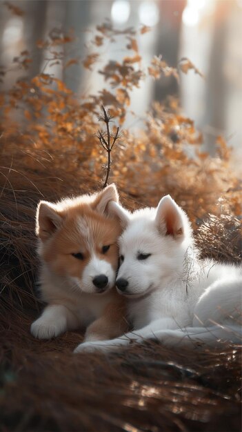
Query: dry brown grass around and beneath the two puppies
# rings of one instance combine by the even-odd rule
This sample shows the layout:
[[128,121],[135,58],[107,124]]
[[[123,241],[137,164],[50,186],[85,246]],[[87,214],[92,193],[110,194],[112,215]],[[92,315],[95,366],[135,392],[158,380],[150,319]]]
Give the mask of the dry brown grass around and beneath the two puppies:
[[[2,158],[11,170],[1,168],[1,430],[239,431],[240,347],[192,353],[150,342],[109,356],[72,355],[81,333],[47,342],[30,335],[41,308],[34,295],[36,204],[42,195],[96,186],[86,170],[77,178],[54,161],[29,168],[17,148]],[[233,246],[228,235],[235,235]],[[238,220],[226,215],[210,217],[196,237],[203,255],[238,262],[239,236]]]

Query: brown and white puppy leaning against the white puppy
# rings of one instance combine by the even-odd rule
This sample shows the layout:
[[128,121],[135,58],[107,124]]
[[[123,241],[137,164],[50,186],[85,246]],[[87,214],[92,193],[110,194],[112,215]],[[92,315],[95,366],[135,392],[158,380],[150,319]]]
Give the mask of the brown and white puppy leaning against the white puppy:
[[85,326],[85,340],[105,340],[127,327],[125,302],[114,288],[121,224],[108,211],[118,201],[111,184],[93,195],[39,203],[39,282],[48,305],[32,323],[34,337],[49,339]]

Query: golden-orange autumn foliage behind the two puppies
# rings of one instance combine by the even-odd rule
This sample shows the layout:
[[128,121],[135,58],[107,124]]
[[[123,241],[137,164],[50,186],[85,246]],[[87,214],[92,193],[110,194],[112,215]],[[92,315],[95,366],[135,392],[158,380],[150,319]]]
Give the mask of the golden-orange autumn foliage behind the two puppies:
[[[28,153],[44,151],[54,158],[56,169],[60,164],[62,170],[74,171],[77,177],[86,171],[99,184],[106,164],[96,135],[101,106],[115,116],[114,133],[124,123],[132,90],[139,87],[141,80],[150,76],[179,78],[177,68],[170,68],[161,57],[154,57],[148,73],[145,72],[137,34],[146,31],[148,28],[139,32],[132,28],[117,31],[110,21],[97,26],[92,45],[101,47],[105,41],[112,43],[121,36],[128,41],[128,52],[133,52],[125,55],[123,61],[108,61],[99,70],[106,85],[97,95],[79,99],[63,81],[46,73],[32,80],[19,79],[7,93],[0,94],[1,140],[16,143]],[[54,29],[46,41],[38,42],[38,47],[52,52],[54,61],[59,54],[55,57],[53,47],[72,39],[72,35]],[[83,66],[91,69],[100,56],[101,52],[88,52]],[[26,68],[30,60],[28,51],[23,51],[16,62]],[[63,68],[74,63],[77,59],[70,59]],[[179,68],[185,73],[192,68],[201,75],[185,58],[179,62]],[[202,142],[201,132],[196,131],[192,119],[180,114],[176,99],[170,99],[166,107],[156,102],[146,116],[144,128],[135,135],[122,130],[122,139],[112,152],[110,181],[126,193],[125,204],[129,207],[137,206],[134,199],[139,204],[156,205],[161,195],[170,193],[195,222],[205,213],[218,214],[217,200],[222,196],[230,202],[230,211],[239,215],[239,181],[230,164],[230,148],[218,137],[216,155],[211,157],[201,151]],[[55,160],[57,152],[61,157]],[[34,158],[28,160],[32,169],[36,163]]]

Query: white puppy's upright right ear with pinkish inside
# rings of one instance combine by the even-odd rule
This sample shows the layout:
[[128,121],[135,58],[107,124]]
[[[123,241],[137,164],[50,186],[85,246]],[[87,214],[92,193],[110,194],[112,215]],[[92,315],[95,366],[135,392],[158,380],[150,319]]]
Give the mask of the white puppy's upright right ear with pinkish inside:
[[161,234],[171,235],[180,240],[184,238],[185,229],[190,225],[188,217],[170,195],[161,198],[157,206],[155,223]]

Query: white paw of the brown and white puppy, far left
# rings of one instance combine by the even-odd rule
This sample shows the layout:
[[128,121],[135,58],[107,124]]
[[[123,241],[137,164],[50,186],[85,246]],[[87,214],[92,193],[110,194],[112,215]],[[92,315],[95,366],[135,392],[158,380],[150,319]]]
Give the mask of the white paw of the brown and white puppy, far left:
[[63,320],[59,320],[59,322],[54,322],[50,320],[43,320],[43,318],[40,317],[31,324],[30,332],[38,339],[51,339],[52,337],[57,337],[63,333],[65,328],[65,318],[63,318]]

